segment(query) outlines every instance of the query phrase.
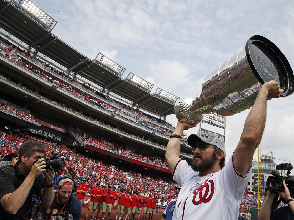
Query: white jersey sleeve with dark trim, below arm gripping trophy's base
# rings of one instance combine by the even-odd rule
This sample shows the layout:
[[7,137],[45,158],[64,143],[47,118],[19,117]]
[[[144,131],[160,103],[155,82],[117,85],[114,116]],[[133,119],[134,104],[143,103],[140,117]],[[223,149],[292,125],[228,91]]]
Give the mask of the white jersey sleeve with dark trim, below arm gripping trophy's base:
[[228,199],[232,201],[239,201],[242,199],[248,184],[250,178],[250,175],[248,176],[248,174],[252,171],[252,165],[245,176],[238,174],[234,167],[233,155],[230,157],[223,169],[218,172],[219,185]]

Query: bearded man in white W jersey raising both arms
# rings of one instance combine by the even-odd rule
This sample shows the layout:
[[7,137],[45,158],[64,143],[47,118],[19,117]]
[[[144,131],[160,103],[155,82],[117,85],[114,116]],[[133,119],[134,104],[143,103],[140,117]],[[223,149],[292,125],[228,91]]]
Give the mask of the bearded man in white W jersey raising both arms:
[[[184,130],[193,128],[178,121],[166,146],[165,159],[173,180],[181,186],[173,220],[175,219],[238,219],[239,207],[252,170],[252,159],[265,127],[268,99],[283,93],[278,82],[264,83],[245,120],[240,141],[225,164],[225,144],[214,134],[192,134],[191,166],[180,158],[180,141]],[[197,213],[197,214],[196,214]]]

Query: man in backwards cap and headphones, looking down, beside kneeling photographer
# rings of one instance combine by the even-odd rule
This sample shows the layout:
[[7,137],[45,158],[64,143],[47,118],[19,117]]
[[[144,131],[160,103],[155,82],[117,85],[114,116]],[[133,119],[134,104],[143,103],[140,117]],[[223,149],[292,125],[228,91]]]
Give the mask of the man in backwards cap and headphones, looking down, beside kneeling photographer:
[[53,216],[79,220],[82,212],[82,205],[79,199],[73,196],[74,179],[68,176],[61,177],[56,186],[56,193],[50,207],[42,207],[42,219],[52,219]]

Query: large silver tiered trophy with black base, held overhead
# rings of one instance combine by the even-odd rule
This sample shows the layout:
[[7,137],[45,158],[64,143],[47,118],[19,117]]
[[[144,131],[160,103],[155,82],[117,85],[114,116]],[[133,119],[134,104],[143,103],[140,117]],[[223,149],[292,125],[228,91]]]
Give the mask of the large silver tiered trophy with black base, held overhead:
[[284,89],[281,97],[293,93],[294,76],[290,64],[279,48],[265,37],[251,37],[245,48],[208,73],[202,91],[175,103],[179,121],[197,124],[203,114],[223,116],[252,107],[262,84],[274,80]]

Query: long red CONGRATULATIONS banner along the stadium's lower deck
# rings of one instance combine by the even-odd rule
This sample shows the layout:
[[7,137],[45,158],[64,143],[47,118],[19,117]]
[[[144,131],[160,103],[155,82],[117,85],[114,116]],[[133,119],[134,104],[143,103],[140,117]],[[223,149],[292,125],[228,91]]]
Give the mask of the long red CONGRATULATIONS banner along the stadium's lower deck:
[[114,153],[112,151],[108,151],[106,149],[98,148],[98,147],[90,145],[90,144],[86,144],[85,148],[90,149],[90,150],[94,150],[96,152],[103,153],[103,154],[106,154],[106,155],[109,155],[111,157],[115,157],[115,158],[118,158],[118,159],[121,159],[121,160],[126,160],[126,161],[129,161],[131,163],[136,163],[136,164],[139,164],[139,165],[142,165],[142,166],[145,166],[145,167],[150,167],[150,168],[153,168],[155,170],[161,170],[161,171],[168,172],[168,173],[171,172],[168,168],[159,167],[159,166],[156,166],[156,165],[153,165],[153,164],[150,164],[150,163],[145,163],[145,162],[143,162],[141,160],[136,160],[136,159],[133,159],[133,158],[129,158],[129,157],[126,157],[124,155],[117,154],[117,153]]

